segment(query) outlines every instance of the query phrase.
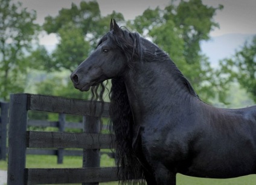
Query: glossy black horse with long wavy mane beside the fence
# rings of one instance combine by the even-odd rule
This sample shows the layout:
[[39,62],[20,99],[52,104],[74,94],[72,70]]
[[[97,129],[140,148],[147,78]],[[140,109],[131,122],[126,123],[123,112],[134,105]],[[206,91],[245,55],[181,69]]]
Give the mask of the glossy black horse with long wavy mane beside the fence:
[[176,173],[256,174],[256,106],[202,102],[164,51],[115,20],[71,79],[80,91],[112,79],[110,118],[124,183],[176,184]]

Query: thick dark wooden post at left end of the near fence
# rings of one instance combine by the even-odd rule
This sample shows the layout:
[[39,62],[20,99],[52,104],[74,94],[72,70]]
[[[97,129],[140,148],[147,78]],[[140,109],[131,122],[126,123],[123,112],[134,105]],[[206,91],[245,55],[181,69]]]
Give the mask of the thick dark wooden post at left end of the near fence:
[[11,94],[7,184],[25,183],[27,94]]

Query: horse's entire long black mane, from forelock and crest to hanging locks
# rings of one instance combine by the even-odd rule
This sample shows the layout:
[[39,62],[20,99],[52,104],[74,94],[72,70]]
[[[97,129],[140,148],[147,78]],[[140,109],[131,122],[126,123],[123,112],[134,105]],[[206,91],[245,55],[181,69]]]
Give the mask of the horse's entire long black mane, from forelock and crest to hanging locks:
[[[197,97],[190,82],[178,70],[170,57],[158,46],[150,41],[139,36],[138,33],[132,33],[122,30],[122,37],[118,37],[114,31],[107,32],[99,41],[98,45],[104,40],[110,39],[124,53],[127,59],[128,66],[133,69],[136,62],[170,62],[173,65],[173,73],[176,77],[182,80],[183,85],[188,91]],[[92,88],[94,94],[93,100],[103,100],[104,85],[100,84],[101,88],[95,86]],[[98,89],[101,89],[100,92]],[[99,93],[98,93],[99,92]],[[112,88],[110,89],[110,123],[112,124],[115,133],[115,142],[117,144],[117,166],[121,183],[125,184],[145,184],[145,177],[139,159],[135,156],[132,148],[133,143],[133,115],[129,105],[129,100],[126,91],[126,85],[121,77],[112,79]]]

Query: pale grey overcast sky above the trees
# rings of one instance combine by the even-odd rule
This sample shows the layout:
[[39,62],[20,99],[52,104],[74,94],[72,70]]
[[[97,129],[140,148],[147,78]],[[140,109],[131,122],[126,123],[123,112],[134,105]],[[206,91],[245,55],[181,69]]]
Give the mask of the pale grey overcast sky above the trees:
[[[18,1],[18,0],[15,0]],[[79,4],[81,0],[22,0],[23,7],[37,11],[37,22],[42,24],[44,17],[56,16],[61,8],[70,8],[71,3]],[[240,33],[256,34],[256,0],[202,0],[203,4],[217,7],[224,5],[214,17],[220,29],[211,32],[211,36]],[[126,20],[134,19],[147,8],[164,8],[170,0],[98,0],[103,16],[113,10],[123,14]]]

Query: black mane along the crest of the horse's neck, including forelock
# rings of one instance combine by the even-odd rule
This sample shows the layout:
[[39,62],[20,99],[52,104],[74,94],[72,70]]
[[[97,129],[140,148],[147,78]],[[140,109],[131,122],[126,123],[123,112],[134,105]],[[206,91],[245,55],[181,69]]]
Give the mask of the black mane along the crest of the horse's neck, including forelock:
[[[171,73],[179,80],[181,80],[182,84],[185,88],[187,88],[188,92],[199,98],[196,91],[194,91],[193,86],[187,80],[187,78],[181,73],[176,64],[171,60],[170,56],[164,52],[164,50],[160,49],[156,44],[146,40],[145,38],[140,37],[138,32],[129,32],[126,30],[122,30],[122,37],[116,35],[114,31],[108,32],[99,42],[99,44],[107,40],[114,41],[126,56],[128,65],[130,68],[133,68],[135,65],[135,61],[144,61],[144,62],[170,62],[172,66]],[[147,45],[147,47],[144,46]]]

